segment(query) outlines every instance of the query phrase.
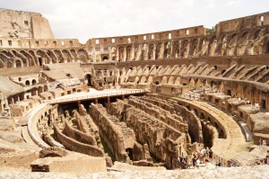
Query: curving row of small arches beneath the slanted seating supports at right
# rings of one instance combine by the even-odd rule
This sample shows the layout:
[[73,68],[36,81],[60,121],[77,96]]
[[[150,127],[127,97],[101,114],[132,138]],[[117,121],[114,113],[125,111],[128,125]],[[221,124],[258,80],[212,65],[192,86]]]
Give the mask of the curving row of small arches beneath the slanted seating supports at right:
[[[259,86],[251,81],[236,81],[233,79],[209,79],[204,77],[188,76],[134,76],[131,78],[136,84],[154,85],[188,85],[190,90],[211,90],[212,92],[222,92],[230,96],[237,96],[247,99],[250,103],[260,103],[267,109],[269,105],[269,94],[261,90]],[[262,105],[262,103],[265,103]]]

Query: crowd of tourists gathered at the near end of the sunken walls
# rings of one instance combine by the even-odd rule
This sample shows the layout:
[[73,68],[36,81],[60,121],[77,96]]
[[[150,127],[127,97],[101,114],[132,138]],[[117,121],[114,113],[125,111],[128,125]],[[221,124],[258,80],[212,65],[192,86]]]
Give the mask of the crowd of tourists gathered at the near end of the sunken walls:
[[202,150],[197,149],[191,156],[178,157],[178,162],[181,165],[182,169],[189,169],[189,168],[197,168],[203,164],[207,166],[208,162],[210,162],[213,158],[213,151],[209,148],[203,148]]

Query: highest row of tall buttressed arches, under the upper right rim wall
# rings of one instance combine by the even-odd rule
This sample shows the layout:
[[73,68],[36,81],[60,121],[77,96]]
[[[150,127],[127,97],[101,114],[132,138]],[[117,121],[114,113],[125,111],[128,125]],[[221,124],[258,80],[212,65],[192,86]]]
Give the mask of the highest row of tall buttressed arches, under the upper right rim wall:
[[[155,43],[128,44],[112,47],[110,59],[136,61],[161,58],[188,58],[201,56],[233,56],[269,53],[266,29],[223,34],[217,38],[203,36],[192,39],[156,41]],[[263,45],[265,44],[265,45]],[[107,60],[107,56],[103,56]]]

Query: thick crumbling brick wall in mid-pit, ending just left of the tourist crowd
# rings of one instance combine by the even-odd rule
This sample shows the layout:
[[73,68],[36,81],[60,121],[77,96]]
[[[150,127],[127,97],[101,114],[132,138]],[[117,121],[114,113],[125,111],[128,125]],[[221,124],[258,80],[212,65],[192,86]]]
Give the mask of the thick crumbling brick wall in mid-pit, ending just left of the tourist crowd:
[[177,166],[173,158],[186,150],[185,134],[134,107],[126,110],[126,124],[134,129],[138,142],[148,145],[152,156],[159,158],[168,168]]

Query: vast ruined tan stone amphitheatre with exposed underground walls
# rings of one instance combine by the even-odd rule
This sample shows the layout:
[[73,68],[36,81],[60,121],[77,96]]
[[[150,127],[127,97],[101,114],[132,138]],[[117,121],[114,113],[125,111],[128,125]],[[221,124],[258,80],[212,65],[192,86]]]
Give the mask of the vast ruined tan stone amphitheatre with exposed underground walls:
[[268,177],[269,13],[85,44],[40,13],[0,21],[1,173],[191,175],[200,158]]

